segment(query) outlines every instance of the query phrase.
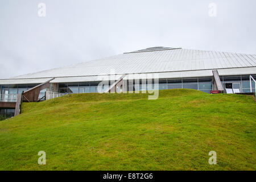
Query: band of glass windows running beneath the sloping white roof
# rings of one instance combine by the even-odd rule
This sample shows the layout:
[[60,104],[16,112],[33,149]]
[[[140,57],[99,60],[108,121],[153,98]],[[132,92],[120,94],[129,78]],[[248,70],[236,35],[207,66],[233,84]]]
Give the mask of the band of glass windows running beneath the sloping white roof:
[[[256,80],[256,75],[253,75]],[[240,92],[250,92],[250,77],[249,76],[220,76],[222,85],[225,88],[240,89]],[[97,93],[97,86],[100,82],[71,82],[60,83],[59,93]],[[112,83],[111,83],[112,84]],[[127,88],[129,91],[135,90],[148,90],[148,81],[146,80],[129,80],[127,81]],[[15,94],[22,93],[28,89],[33,88],[37,84],[24,84],[24,85],[0,85],[2,97],[5,98],[5,94],[13,94],[12,97],[16,97]],[[110,82],[107,82],[110,86]],[[255,92],[255,83],[251,81],[252,92]],[[206,93],[210,93],[213,89],[212,77],[198,77],[198,78],[183,78],[183,79],[159,79],[159,90],[162,89],[195,89],[201,90]],[[102,89],[104,86],[102,85]],[[106,88],[105,88],[106,89]],[[152,89],[154,89],[154,81],[152,81]],[[40,91],[39,98],[45,96],[47,89]],[[9,96],[7,96],[9,97]],[[1,115],[6,117],[12,117],[14,115],[14,109],[0,109]]]

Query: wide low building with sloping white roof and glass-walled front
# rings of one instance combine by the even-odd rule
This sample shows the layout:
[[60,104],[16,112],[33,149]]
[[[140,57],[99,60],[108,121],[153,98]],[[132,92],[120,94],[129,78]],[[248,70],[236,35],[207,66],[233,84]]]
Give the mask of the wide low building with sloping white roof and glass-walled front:
[[[152,47],[121,55],[50,69],[38,73],[0,79],[2,102],[15,101],[17,94],[36,85],[49,82],[40,90],[38,99],[46,90],[56,93],[97,92],[100,76],[115,71],[117,84],[127,81],[134,73],[158,73],[159,89],[187,88],[210,93],[211,90],[225,92],[255,92],[256,55],[218,51],[200,51],[183,48]],[[49,81],[50,80],[50,81]],[[140,81],[142,82],[142,81]],[[129,90],[135,90],[135,82],[128,82]],[[139,87],[142,89],[142,86]],[[236,91],[238,92],[238,91]],[[37,97],[37,96],[36,96]],[[14,110],[0,105],[0,113],[13,115]]]

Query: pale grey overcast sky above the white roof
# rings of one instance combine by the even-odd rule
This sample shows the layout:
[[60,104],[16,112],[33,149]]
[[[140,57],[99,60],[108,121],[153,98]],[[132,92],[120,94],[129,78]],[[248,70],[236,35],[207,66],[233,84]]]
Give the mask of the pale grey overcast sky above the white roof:
[[255,7],[255,0],[1,0],[0,78],[154,46],[256,54]]

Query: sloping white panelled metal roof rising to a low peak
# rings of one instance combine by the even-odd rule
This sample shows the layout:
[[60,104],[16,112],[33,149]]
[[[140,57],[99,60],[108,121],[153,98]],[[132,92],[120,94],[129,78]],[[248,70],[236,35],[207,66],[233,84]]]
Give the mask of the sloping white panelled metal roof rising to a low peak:
[[[256,74],[256,55],[153,47],[67,67],[16,76],[11,79],[109,75],[110,69],[114,69],[115,74],[124,75],[131,73],[187,73],[190,71],[204,73],[211,69],[229,69],[229,72],[232,72],[231,68],[250,68],[251,74]],[[175,76],[175,73],[172,73],[172,75]],[[180,73],[177,75],[180,75]],[[233,75],[236,75],[236,71]],[[201,74],[201,76],[204,75]],[[88,79],[86,78],[86,80]],[[72,81],[72,78],[70,81]]]

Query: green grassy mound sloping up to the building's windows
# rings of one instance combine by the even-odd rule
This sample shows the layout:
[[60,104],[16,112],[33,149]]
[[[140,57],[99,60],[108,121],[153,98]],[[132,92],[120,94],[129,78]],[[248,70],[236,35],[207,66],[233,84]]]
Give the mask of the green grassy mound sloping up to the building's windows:
[[23,103],[0,122],[0,169],[255,170],[255,109],[250,96],[189,89]]

